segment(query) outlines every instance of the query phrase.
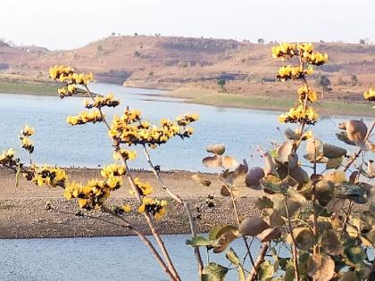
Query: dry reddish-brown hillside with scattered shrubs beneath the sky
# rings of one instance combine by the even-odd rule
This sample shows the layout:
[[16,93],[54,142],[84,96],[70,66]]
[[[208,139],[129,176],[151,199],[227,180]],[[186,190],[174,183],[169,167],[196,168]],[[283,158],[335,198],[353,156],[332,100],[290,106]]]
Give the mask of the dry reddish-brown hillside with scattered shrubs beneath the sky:
[[[99,81],[132,87],[176,88],[198,85],[215,88],[216,79],[227,81],[233,94],[290,95],[290,84],[274,81],[282,62],[271,58],[270,44],[227,39],[187,37],[107,37],[79,49],[48,51],[37,47],[0,44],[0,72],[46,77],[54,64],[70,64],[92,71]],[[327,75],[331,99],[359,100],[362,90],[375,80],[375,45],[317,43],[329,54],[329,63],[317,74]],[[357,82],[352,85],[351,76]]]

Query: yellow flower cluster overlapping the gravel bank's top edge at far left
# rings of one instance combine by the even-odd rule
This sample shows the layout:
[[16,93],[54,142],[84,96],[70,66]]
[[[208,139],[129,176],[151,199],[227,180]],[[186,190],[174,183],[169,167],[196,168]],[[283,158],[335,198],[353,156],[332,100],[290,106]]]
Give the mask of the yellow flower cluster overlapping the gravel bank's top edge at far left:
[[64,169],[49,167],[46,164],[43,166],[32,165],[24,174],[27,180],[31,180],[37,186],[61,186],[65,187],[67,175]]

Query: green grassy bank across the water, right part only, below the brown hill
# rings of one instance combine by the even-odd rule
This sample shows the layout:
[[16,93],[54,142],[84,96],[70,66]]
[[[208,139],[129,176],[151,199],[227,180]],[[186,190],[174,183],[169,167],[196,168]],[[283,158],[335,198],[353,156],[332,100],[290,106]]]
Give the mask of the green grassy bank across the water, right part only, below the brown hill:
[[[294,101],[274,98],[258,98],[247,95],[233,95],[219,93],[210,89],[199,88],[179,88],[175,91],[168,92],[166,95],[179,97],[187,100],[187,103],[199,103],[216,106],[228,106],[238,108],[249,108],[259,110],[271,110],[285,112]],[[340,114],[340,115],[360,115],[374,116],[375,112],[369,104],[362,103],[343,103],[333,101],[320,101],[316,106],[317,110],[323,114]]]

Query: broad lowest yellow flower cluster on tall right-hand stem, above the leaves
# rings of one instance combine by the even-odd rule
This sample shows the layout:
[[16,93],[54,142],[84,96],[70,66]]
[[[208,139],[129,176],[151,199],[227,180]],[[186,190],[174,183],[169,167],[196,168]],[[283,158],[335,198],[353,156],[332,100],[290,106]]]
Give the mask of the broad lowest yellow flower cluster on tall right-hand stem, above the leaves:
[[279,116],[279,122],[281,123],[305,123],[305,124],[315,124],[318,120],[318,113],[315,110],[307,106],[304,110],[304,104],[300,104],[297,108],[292,107],[289,112]]

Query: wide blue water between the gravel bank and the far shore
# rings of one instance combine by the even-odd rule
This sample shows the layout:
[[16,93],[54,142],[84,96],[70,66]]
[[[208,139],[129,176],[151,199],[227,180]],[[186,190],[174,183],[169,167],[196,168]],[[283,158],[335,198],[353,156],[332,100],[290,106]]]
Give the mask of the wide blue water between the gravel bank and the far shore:
[[[224,143],[227,152],[238,160],[246,158],[250,164],[260,164],[259,145],[271,148],[271,142],[282,140],[276,128],[284,129],[277,117],[279,112],[221,108],[189,103],[157,96],[162,91],[121,87],[111,84],[93,84],[96,93],[114,93],[121,99],[121,106],[112,113],[120,114],[129,105],[144,112],[147,120],[158,121],[162,117],[174,118],[179,114],[198,113],[200,120],[193,125],[195,134],[185,141],[176,138],[167,145],[152,152],[155,164],[162,169],[206,170],[201,160],[206,155],[205,147],[214,143]],[[20,129],[28,123],[36,128],[34,159],[62,166],[97,167],[112,162],[111,141],[103,124],[89,124],[71,127],[65,122],[68,115],[82,110],[83,98],[65,98],[37,95],[0,95],[0,150],[14,147]],[[316,136],[335,144],[337,123],[343,118],[330,117],[321,120],[314,128]],[[365,119],[370,121],[370,119]],[[132,167],[146,168],[141,151]],[[27,159],[26,153],[21,157]]]

